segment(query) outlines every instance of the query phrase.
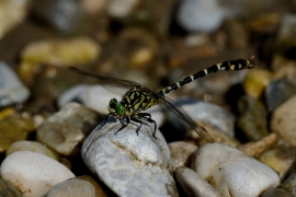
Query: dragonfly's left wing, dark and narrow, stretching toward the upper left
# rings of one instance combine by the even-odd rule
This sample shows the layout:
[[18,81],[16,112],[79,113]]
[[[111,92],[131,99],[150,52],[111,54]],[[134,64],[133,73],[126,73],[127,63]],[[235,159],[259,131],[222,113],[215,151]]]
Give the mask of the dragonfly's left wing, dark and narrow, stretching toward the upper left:
[[112,77],[103,77],[103,76],[99,76],[99,74],[94,74],[94,73],[90,73],[90,72],[80,70],[76,67],[68,67],[68,69],[70,71],[73,71],[73,72],[82,74],[82,76],[95,78],[100,81],[101,84],[115,85],[115,86],[121,86],[121,88],[125,88],[125,89],[130,89],[135,85],[140,86],[140,84],[135,82],[135,81],[128,81],[128,80],[123,80],[123,79],[117,79],[117,78],[112,78]]

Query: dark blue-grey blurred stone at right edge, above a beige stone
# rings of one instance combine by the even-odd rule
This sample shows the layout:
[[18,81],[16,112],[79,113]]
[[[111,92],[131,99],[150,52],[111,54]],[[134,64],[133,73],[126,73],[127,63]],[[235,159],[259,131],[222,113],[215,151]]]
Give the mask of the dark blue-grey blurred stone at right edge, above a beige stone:
[[265,90],[265,99],[269,112],[273,112],[276,107],[296,94],[295,85],[286,79],[272,81]]

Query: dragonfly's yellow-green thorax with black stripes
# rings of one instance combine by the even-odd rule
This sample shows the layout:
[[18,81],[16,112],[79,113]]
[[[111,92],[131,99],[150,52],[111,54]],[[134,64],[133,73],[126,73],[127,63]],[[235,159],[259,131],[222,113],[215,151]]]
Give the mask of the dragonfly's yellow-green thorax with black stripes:
[[141,86],[133,86],[121,101],[126,109],[126,115],[146,111],[160,102],[157,93]]

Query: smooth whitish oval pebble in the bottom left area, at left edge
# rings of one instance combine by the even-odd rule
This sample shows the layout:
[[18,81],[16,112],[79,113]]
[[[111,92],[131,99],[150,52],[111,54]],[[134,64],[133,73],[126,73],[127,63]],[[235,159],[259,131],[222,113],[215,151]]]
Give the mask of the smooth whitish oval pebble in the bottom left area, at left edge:
[[19,188],[24,197],[43,196],[54,185],[75,177],[59,162],[31,151],[8,155],[1,164],[0,174]]

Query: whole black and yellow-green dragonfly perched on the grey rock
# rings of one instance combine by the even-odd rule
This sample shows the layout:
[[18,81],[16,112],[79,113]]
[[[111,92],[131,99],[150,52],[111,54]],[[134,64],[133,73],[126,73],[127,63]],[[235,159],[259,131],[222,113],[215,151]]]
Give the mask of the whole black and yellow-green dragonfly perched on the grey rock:
[[220,70],[235,71],[242,69],[252,69],[254,66],[255,61],[253,56],[250,59],[236,59],[230,61],[224,61],[220,63],[213,65],[207,69],[201,70],[192,76],[189,76],[183,80],[178,81],[172,85],[162,89],[160,91],[152,91],[135,81],[113,77],[103,77],[100,74],[83,71],[76,67],[69,67],[68,69],[82,76],[95,78],[102,84],[115,85],[118,88],[127,89],[127,92],[123,95],[121,102],[118,102],[116,99],[111,99],[107,106],[109,114],[105,118],[104,124],[106,124],[106,120],[110,116],[119,119],[125,119],[126,123],[123,124],[123,126],[115,132],[115,135],[119,132],[122,129],[124,129],[132,120],[139,124],[139,126],[136,129],[136,134],[138,135],[138,131],[143,126],[143,123],[146,120],[155,125],[152,136],[153,138],[156,138],[157,124],[153,119],[151,119],[151,115],[149,113],[143,112],[147,111],[148,108],[155,105],[164,104],[173,114],[175,114],[179,118],[184,120],[193,130],[195,130],[201,138],[203,138],[208,142],[214,142],[212,136],[207,132],[207,130],[201,125],[198,125],[196,121],[194,121],[181,106],[175,104],[175,102],[169,99],[167,95],[180,89],[184,84],[190,83],[198,78],[205,77],[209,73],[217,72]]

